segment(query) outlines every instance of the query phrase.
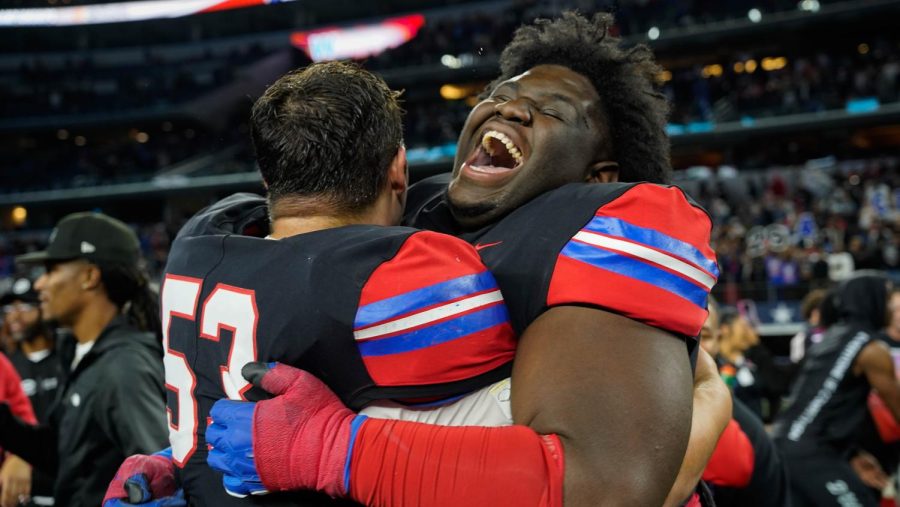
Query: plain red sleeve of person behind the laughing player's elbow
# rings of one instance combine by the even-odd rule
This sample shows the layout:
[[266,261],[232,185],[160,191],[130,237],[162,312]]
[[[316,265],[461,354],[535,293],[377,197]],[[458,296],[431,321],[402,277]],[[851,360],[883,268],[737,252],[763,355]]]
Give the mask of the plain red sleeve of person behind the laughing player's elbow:
[[737,421],[732,419],[719,437],[702,478],[718,486],[746,487],[753,476],[755,458],[753,444]]

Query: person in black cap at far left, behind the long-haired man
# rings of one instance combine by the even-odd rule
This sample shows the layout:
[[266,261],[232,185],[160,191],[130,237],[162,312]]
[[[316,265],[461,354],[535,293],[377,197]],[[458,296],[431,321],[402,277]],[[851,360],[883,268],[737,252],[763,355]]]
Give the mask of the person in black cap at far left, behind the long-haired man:
[[[53,333],[42,321],[38,303],[37,292],[29,278],[15,280],[10,290],[0,297],[0,310],[14,347],[9,360],[22,378],[22,391],[31,401],[38,423],[47,424],[61,372]],[[5,466],[0,470],[0,483],[6,481]],[[31,481],[34,504],[53,505],[53,477],[35,470]]]

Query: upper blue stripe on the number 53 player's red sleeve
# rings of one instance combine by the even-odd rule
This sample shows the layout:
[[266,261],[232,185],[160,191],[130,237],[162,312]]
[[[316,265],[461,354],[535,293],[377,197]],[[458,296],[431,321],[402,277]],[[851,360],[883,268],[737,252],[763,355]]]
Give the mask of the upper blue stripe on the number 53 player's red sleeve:
[[356,312],[353,325],[359,329],[451,299],[496,288],[497,282],[489,271],[461,276],[361,306]]

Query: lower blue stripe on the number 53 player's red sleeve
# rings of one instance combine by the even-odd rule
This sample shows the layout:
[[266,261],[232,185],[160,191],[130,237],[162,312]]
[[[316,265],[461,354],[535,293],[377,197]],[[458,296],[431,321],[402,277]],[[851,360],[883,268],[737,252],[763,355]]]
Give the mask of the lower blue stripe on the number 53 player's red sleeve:
[[386,356],[424,349],[509,322],[506,306],[497,304],[455,319],[416,329],[415,331],[357,342],[363,357]]

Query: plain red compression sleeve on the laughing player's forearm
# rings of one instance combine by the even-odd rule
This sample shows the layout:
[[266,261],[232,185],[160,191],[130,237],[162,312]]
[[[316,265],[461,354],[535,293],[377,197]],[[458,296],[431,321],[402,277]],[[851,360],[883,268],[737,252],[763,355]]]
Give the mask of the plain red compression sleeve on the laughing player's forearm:
[[364,505],[562,507],[563,448],[526,426],[433,426],[367,419],[348,490]]

